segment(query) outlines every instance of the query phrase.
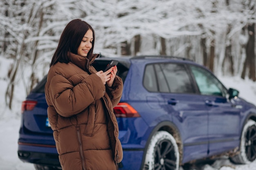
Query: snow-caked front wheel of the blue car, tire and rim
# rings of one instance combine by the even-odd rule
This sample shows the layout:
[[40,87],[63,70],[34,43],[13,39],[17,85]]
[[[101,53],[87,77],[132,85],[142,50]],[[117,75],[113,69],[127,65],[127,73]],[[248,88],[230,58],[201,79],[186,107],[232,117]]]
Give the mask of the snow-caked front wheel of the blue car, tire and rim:
[[256,122],[247,121],[240,141],[240,153],[231,157],[231,161],[239,164],[251,163],[256,159]]

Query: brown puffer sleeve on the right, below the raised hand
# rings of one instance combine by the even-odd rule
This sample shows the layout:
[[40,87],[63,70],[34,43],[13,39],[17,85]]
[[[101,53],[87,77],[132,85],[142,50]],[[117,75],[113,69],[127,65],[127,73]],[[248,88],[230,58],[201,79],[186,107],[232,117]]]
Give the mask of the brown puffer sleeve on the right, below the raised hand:
[[117,106],[123,93],[123,80],[116,75],[113,85],[111,87],[106,85],[106,91],[111,99],[113,107]]

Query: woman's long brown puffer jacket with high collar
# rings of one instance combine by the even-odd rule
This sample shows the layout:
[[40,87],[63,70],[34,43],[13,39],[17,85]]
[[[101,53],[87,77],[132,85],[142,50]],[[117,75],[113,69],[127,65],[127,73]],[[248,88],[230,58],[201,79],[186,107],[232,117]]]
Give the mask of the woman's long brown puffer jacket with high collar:
[[123,91],[122,79],[103,85],[88,60],[72,53],[69,63],[50,67],[45,85],[47,114],[63,170],[115,170],[123,159],[113,113]]

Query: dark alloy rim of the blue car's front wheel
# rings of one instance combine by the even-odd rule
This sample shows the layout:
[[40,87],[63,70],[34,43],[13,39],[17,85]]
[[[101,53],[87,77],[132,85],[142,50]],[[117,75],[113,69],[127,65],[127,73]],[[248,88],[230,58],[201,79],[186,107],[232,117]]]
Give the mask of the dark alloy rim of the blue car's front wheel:
[[256,159],[256,126],[250,126],[246,132],[245,153],[249,161]]

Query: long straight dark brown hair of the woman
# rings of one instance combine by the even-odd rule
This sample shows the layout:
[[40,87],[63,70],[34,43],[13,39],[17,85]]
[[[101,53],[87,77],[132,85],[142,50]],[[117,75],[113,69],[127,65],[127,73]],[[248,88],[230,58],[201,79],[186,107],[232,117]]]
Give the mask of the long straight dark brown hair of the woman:
[[89,29],[92,30],[93,34],[92,48],[87,55],[87,57],[90,58],[92,56],[94,48],[94,30],[92,29],[92,26],[90,26],[90,24],[88,24],[87,22],[76,19],[70,21],[63,30],[60,41],[58,43],[58,47],[52,57],[52,62],[50,66],[56,64],[57,62],[70,62],[67,57],[67,53],[70,51],[71,53],[77,54],[77,50],[81,41],[83,40],[83,36]]

